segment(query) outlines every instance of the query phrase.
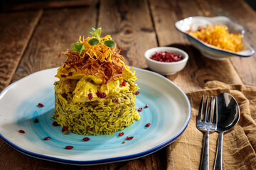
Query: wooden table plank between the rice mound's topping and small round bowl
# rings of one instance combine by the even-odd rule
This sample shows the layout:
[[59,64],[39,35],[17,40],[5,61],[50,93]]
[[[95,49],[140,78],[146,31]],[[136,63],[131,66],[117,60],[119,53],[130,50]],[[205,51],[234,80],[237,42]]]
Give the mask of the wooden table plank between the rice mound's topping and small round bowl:
[[122,48],[126,64],[146,67],[144,52],[157,46],[146,0],[101,1],[98,26]]

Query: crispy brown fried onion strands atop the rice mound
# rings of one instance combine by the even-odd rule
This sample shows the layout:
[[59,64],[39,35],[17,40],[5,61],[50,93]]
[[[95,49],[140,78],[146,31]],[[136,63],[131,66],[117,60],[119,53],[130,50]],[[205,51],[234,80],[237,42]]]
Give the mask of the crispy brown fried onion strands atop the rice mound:
[[[67,60],[64,62],[64,68],[70,69],[71,67],[75,68],[77,72],[82,72],[87,75],[95,75],[103,79],[103,83],[108,84],[111,80],[118,80],[119,77],[122,77],[124,70],[124,58],[122,55],[119,55],[119,50],[114,50],[115,48],[109,48],[110,51],[109,57],[103,58],[97,56],[92,56],[87,52],[82,52],[80,55],[79,52],[66,51],[61,52],[58,57],[62,55],[67,56]],[[90,50],[93,51],[91,48]],[[102,55],[104,56],[104,55]]]

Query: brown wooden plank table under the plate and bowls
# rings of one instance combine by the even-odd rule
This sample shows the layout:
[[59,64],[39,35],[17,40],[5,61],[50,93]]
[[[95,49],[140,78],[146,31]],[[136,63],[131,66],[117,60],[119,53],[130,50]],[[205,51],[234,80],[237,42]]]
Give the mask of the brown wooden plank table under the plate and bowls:
[[[126,64],[147,69],[144,52],[156,46],[188,52],[185,69],[167,77],[185,92],[210,80],[256,86],[256,55],[218,62],[203,57],[176,30],[188,16],[228,16],[245,27],[245,40],[255,47],[256,13],[242,0],[59,1],[2,4],[0,13],[0,91],[33,72],[60,67],[58,54],[91,27],[102,27],[122,47]],[[171,144],[173,145],[173,144]],[[166,169],[166,149],[128,162],[73,166],[28,157],[0,140],[0,169]]]

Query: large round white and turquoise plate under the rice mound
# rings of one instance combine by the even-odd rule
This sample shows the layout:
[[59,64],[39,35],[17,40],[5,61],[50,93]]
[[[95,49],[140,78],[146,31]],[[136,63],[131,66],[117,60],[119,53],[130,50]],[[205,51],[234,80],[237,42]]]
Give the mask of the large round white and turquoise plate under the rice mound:
[[[0,137],[11,147],[31,157],[66,164],[104,164],[144,157],[174,142],[186,129],[191,106],[186,94],[160,74],[134,68],[140,94],[136,108],[141,119],[113,135],[85,136],[52,125],[54,78],[57,68],[29,75],[8,86],[0,94]],[[43,103],[43,108],[38,108]],[[144,108],[149,104],[149,108]],[[39,122],[33,120],[38,118]],[[146,123],[151,125],[146,128]],[[21,134],[18,130],[24,130]],[[43,140],[44,137],[50,140]],[[125,140],[133,136],[132,140]],[[90,140],[82,141],[83,137]],[[126,141],[122,144],[123,141]],[[64,149],[72,145],[73,149]]]

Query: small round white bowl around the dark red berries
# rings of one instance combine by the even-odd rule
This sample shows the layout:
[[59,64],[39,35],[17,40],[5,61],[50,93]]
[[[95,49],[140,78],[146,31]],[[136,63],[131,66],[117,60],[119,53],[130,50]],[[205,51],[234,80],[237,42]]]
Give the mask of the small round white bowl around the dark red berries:
[[[181,55],[182,60],[178,62],[158,62],[149,58],[151,55],[154,55],[155,52],[173,52],[177,55]],[[176,72],[181,71],[181,69],[183,69],[188,62],[188,54],[176,47],[154,47],[147,50],[144,56],[149,69],[166,76],[173,75],[176,74]]]

